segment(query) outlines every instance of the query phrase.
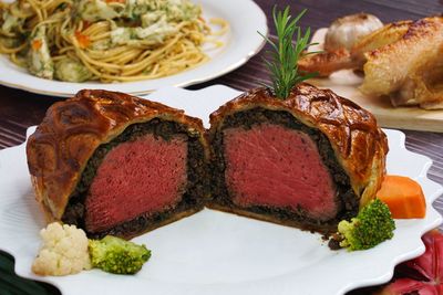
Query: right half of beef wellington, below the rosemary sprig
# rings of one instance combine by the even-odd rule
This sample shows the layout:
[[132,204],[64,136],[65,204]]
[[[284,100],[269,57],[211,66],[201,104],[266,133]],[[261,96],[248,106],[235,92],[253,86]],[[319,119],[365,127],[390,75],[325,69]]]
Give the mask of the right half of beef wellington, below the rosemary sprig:
[[313,230],[337,231],[374,198],[387,138],[354,103],[309,84],[287,99],[250,91],[210,115],[208,207]]

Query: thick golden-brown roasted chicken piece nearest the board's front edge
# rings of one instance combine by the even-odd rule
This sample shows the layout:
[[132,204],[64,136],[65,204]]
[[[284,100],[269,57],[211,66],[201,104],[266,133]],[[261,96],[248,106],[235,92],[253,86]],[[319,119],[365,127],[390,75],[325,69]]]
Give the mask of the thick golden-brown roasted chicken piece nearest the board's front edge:
[[399,41],[364,56],[364,94],[389,95],[394,106],[443,108],[443,18],[413,22]]

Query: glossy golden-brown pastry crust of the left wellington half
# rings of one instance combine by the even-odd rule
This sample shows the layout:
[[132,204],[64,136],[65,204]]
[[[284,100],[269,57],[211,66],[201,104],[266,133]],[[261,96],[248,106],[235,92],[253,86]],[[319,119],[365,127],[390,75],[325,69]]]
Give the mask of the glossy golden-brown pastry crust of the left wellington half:
[[183,110],[123,93],[81,91],[55,103],[28,139],[27,156],[35,198],[48,221],[61,220],[94,150],[132,124],[153,118],[186,125],[198,134],[208,158],[203,123]]

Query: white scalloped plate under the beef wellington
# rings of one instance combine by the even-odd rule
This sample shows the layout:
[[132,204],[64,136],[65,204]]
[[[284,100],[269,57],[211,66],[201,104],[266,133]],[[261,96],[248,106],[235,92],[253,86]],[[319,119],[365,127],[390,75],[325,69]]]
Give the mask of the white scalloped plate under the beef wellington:
[[[207,118],[238,94],[225,86],[195,92],[164,88],[151,98]],[[368,251],[330,251],[319,234],[204,210],[134,239],[153,253],[134,276],[93,270],[66,277],[39,277],[31,273],[31,263],[44,223],[33,199],[24,145],[0,151],[0,249],[16,257],[19,275],[51,283],[64,295],[343,294],[380,284],[390,280],[395,264],[423,253],[420,238],[441,223],[431,204],[443,192],[440,185],[426,178],[432,161],[408,151],[402,133],[385,133],[390,145],[388,172],[421,183],[426,218],[396,220],[394,238]]]

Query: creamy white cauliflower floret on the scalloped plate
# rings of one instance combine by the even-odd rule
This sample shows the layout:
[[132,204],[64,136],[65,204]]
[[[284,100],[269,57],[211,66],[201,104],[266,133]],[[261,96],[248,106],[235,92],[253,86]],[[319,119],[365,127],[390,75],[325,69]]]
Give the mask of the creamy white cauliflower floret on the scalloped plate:
[[91,268],[89,240],[75,225],[51,223],[40,231],[43,245],[32,264],[38,275],[69,275]]

